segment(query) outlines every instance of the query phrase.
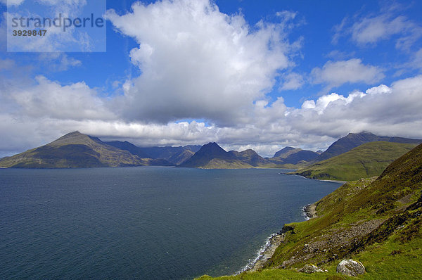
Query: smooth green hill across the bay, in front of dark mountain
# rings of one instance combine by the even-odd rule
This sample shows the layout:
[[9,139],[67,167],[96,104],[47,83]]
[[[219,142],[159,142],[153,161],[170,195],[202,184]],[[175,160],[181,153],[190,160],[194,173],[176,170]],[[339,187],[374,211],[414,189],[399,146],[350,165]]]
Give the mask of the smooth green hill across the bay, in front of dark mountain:
[[378,176],[392,161],[416,144],[376,141],[362,144],[347,153],[310,165],[295,172],[313,179],[352,181]]

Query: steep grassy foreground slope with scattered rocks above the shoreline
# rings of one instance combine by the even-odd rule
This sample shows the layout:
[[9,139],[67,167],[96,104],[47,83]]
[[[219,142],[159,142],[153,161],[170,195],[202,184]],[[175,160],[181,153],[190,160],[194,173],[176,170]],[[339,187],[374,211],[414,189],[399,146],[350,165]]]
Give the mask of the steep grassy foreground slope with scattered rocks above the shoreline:
[[[348,182],[321,199],[319,217],[286,224],[290,230],[266,269],[219,279],[327,279],[338,276],[345,258],[365,265],[359,279],[422,279],[422,145],[373,179]],[[295,272],[305,264],[328,272]]]

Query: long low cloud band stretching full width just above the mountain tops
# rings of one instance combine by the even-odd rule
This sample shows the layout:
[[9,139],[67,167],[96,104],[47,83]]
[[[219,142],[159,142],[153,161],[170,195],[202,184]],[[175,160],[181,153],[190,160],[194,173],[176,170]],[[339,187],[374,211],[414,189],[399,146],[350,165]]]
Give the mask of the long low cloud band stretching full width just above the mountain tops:
[[[49,94],[43,95],[43,90]],[[326,94],[305,101],[302,108],[286,107],[283,98],[271,105],[260,100],[255,102],[251,115],[245,116],[248,124],[236,127],[196,121],[125,122],[104,114],[108,112],[106,101],[85,84],[60,86],[41,77],[39,85],[27,91],[9,100],[1,110],[0,129],[4,136],[0,151],[3,153],[39,146],[73,130],[106,140],[124,139],[139,146],[217,141],[228,150],[253,148],[264,156],[271,156],[284,146],[324,149],[348,132],[363,130],[379,135],[422,138],[422,75],[399,80],[390,87],[381,84],[365,92]],[[18,107],[6,113],[11,111],[13,103]],[[87,108],[86,103],[96,103],[97,107]],[[54,106],[56,108],[52,108]]]

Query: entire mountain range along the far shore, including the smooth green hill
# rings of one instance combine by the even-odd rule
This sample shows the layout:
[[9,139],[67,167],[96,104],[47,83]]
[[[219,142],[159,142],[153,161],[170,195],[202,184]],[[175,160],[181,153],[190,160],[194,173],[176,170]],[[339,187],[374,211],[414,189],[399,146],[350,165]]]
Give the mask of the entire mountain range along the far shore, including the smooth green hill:
[[[402,145],[392,144],[388,146],[385,141]],[[363,146],[357,151],[351,151],[369,142],[373,143],[369,148]],[[277,151],[272,158],[262,158],[251,149],[241,152],[227,152],[214,142],[203,146],[143,148],[128,141],[104,142],[94,136],[71,132],[44,146],[11,157],[1,158],[0,167],[70,168],[143,165],[206,169],[280,167],[299,168],[296,174],[306,177],[345,179],[347,170],[350,170],[349,173],[353,173],[355,176],[376,175],[388,163],[391,163],[392,160],[418,143],[422,143],[422,140],[377,136],[369,132],[350,133],[335,141],[322,153],[321,151],[314,152],[285,147]],[[338,156],[340,158],[336,158]],[[321,158],[327,158],[328,162],[326,160],[321,161]],[[333,160],[329,160],[331,158]],[[361,170],[361,172],[357,172],[357,170]],[[366,173],[362,170],[365,170]],[[373,172],[373,170],[376,171]],[[343,175],[339,176],[339,172]],[[347,179],[350,178],[347,177]]]

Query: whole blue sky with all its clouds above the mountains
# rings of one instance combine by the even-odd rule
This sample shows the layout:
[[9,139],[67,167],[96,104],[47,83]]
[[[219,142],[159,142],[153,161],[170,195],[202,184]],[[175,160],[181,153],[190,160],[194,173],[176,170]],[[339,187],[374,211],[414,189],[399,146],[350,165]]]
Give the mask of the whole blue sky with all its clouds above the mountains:
[[422,139],[422,1],[108,0],[100,51],[14,52],[8,8],[25,1],[0,0],[0,157],[76,130],[262,156],[349,132]]

